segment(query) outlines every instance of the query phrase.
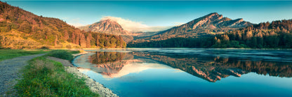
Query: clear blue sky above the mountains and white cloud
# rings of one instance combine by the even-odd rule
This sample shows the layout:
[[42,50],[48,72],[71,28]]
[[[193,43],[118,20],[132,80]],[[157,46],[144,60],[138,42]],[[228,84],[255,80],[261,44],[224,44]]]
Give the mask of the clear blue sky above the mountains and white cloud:
[[6,1],[44,17],[73,25],[121,17],[151,27],[186,23],[208,13],[252,23],[292,19],[292,1]]

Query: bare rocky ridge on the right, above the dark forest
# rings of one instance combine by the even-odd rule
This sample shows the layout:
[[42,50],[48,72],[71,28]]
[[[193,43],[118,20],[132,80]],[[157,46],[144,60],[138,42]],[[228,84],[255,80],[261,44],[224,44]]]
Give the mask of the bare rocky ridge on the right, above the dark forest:
[[166,40],[168,38],[194,38],[203,35],[215,35],[225,31],[231,31],[242,27],[248,27],[252,24],[245,22],[243,19],[231,20],[228,17],[223,17],[218,13],[210,13],[204,17],[199,17],[195,20],[182,24],[179,27],[173,27],[166,31],[160,31],[153,36],[142,38],[136,41],[145,40]]

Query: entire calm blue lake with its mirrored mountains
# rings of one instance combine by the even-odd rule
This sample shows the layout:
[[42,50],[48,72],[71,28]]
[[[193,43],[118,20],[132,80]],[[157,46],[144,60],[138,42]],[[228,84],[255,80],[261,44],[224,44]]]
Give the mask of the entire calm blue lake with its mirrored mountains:
[[292,50],[88,50],[81,73],[121,97],[292,96]]

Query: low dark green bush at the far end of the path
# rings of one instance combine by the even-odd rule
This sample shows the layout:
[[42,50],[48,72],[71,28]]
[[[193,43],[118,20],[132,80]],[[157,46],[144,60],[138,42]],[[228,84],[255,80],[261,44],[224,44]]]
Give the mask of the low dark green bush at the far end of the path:
[[67,52],[66,50],[53,50],[48,54],[48,56],[57,57],[60,59],[66,59],[69,61],[72,61],[72,59],[73,59],[72,54]]

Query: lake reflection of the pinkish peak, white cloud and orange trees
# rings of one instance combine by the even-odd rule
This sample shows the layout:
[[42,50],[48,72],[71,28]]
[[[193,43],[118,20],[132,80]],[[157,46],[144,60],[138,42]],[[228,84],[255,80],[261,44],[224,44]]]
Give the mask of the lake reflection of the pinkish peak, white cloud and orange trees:
[[[139,73],[147,69],[171,68],[147,59],[134,59],[133,54],[126,52],[95,52],[88,59],[94,65],[90,69],[107,78]],[[146,61],[147,64],[145,64]]]

